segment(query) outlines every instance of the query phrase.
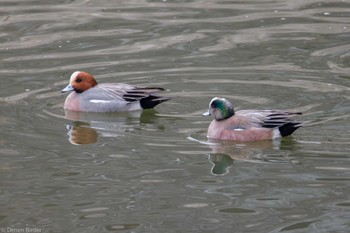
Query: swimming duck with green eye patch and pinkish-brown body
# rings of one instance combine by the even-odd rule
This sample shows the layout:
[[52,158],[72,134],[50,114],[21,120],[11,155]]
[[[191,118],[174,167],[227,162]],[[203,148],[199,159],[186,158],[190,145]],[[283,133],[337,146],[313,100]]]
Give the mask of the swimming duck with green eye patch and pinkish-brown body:
[[240,110],[224,98],[215,97],[210,101],[209,111],[213,115],[208,128],[208,138],[234,141],[257,141],[276,139],[291,135],[302,126],[293,119],[300,112],[282,110]]

